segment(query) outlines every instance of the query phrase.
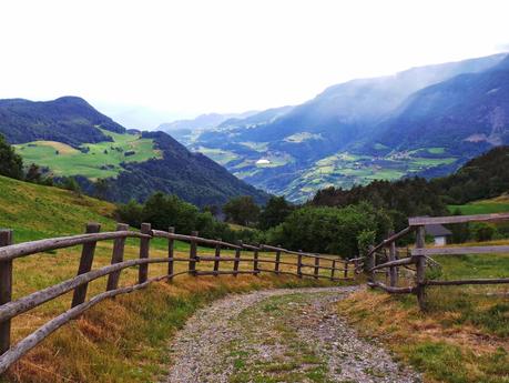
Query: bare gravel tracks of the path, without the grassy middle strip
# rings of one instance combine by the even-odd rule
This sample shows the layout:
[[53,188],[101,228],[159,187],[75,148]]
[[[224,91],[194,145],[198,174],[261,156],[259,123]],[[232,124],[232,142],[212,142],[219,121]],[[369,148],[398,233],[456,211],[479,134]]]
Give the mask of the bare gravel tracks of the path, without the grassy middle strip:
[[[419,374],[395,362],[377,341],[363,340],[340,318],[336,302],[356,286],[277,289],[233,294],[203,308],[186,322],[171,343],[173,365],[167,383],[227,383],[234,371],[232,357],[224,354],[232,342],[248,343],[235,319],[246,309],[279,295],[305,294],[306,308],[289,302],[292,315],[285,324],[298,329],[301,341],[316,350],[328,367],[330,382],[413,383]],[[293,310],[295,305],[295,310]],[[277,321],[266,318],[267,323]],[[251,329],[252,330],[252,329]],[[256,330],[256,329],[255,329]],[[266,336],[262,334],[261,336]],[[258,360],[271,361],[284,353],[284,345],[256,344]]]

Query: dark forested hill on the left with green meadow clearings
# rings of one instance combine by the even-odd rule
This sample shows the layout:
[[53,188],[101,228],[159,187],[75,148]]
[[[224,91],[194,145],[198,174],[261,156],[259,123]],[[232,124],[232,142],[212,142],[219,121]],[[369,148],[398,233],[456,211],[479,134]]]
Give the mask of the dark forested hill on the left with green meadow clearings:
[[106,179],[103,194],[111,201],[143,201],[156,191],[201,206],[236,195],[259,203],[267,199],[169,134],[128,131],[80,98],[0,101],[0,133],[16,143],[27,164],[37,163],[54,177],[77,177],[89,194],[95,194],[98,179]]

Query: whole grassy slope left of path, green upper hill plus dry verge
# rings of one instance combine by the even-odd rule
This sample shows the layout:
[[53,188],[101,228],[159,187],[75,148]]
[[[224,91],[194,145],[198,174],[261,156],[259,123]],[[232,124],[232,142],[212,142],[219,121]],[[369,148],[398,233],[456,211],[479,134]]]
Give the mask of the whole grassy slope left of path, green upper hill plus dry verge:
[[[114,205],[78,196],[55,188],[29,184],[0,177],[0,226],[14,230],[16,242],[82,233],[89,221],[100,222],[102,230],[113,230]],[[166,256],[167,243],[151,241],[151,256]],[[75,275],[81,248],[50,251],[14,261],[13,299],[53,285]],[[111,262],[112,243],[100,242],[93,268]],[[176,254],[187,256],[189,245],[177,242]],[[198,254],[213,254],[198,249]],[[224,254],[232,255],[225,251]],[[139,241],[129,240],[125,259],[139,256]],[[273,254],[262,258],[273,259]],[[285,256],[283,258],[286,259]],[[203,262],[202,262],[203,263]],[[241,270],[252,268],[241,264]],[[268,265],[267,268],[273,265]],[[177,263],[175,271],[186,270]],[[226,268],[232,268],[231,264]],[[211,270],[212,264],[198,265]],[[224,270],[224,269],[223,269]],[[285,268],[282,268],[285,270]],[[164,275],[165,264],[150,266],[149,276]],[[324,271],[325,273],[326,271]],[[122,272],[120,284],[136,281],[138,270]],[[161,282],[147,290],[108,300],[80,319],[57,331],[16,363],[0,382],[152,382],[169,367],[167,342],[185,320],[200,306],[231,292],[275,286],[328,285],[327,281],[293,276],[180,276],[171,284]],[[103,292],[105,279],[89,286],[89,296]],[[12,340],[19,341],[48,320],[70,306],[68,293],[12,321]]]

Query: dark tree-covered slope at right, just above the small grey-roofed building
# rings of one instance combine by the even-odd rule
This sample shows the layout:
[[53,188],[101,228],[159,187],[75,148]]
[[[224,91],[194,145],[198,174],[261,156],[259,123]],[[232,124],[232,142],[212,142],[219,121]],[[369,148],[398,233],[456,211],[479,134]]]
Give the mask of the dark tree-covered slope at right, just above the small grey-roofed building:
[[[509,191],[509,147],[499,147],[464,164],[455,173],[427,181],[407,178],[374,181],[352,189],[326,188],[311,201],[315,205],[347,206],[362,201],[387,209],[397,229],[406,228],[408,216],[446,215],[456,208],[471,214],[500,212]],[[487,200],[497,198],[495,202]],[[467,204],[472,202],[472,204]],[[447,210],[449,208],[449,211]]]

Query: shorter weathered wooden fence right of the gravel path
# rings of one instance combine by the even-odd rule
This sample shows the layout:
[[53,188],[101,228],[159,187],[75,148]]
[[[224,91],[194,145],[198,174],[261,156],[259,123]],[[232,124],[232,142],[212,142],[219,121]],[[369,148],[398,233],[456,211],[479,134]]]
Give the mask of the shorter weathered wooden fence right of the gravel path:
[[[446,246],[446,248],[426,248],[425,228],[428,224],[457,224],[468,222],[500,222],[509,220],[509,213],[479,214],[479,215],[455,215],[455,216],[417,216],[408,220],[408,228],[397,234],[389,235],[369,250],[366,262],[369,273],[368,285],[379,288],[391,294],[416,294],[421,310],[426,308],[426,286],[447,286],[462,284],[497,284],[509,283],[509,278],[499,279],[468,279],[455,281],[428,280],[426,278],[426,268],[436,266],[437,262],[431,258],[435,255],[462,255],[462,254],[495,254],[509,253],[508,245],[486,245],[486,246]],[[415,248],[407,252],[407,256],[399,258],[396,243],[401,238],[416,233]],[[380,253],[387,250],[386,253]],[[381,263],[378,263],[383,260]],[[414,268],[411,269],[410,265]],[[414,284],[409,286],[399,286],[399,270],[404,268],[410,270],[415,278]],[[388,283],[377,281],[377,273],[387,275]],[[509,271],[508,271],[509,274]]]

